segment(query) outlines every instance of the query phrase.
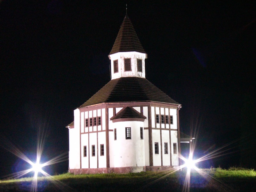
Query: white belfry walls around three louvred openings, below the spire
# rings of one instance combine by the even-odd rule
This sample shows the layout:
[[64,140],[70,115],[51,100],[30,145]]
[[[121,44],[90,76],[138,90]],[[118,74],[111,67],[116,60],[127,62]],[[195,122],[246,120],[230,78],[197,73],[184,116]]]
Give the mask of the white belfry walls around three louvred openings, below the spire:
[[[122,76],[139,76],[145,78],[145,59],[146,54],[140,52],[118,52],[109,55],[111,59],[111,79],[116,79]],[[131,58],[132,71],[124,71],[124,58]],[[114,60],[118,59],[118,73],[114,73]],[[142,60],[142,72],[137,70],[137,59]]]

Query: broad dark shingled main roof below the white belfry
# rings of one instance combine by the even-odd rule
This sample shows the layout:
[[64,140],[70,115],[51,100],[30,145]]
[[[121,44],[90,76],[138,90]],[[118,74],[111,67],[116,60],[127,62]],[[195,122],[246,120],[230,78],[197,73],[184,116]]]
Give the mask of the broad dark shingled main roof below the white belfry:
[[80,107],[104,102],[112,103],[141,101],[179,104],[145,78],[120,77],[109,81]]

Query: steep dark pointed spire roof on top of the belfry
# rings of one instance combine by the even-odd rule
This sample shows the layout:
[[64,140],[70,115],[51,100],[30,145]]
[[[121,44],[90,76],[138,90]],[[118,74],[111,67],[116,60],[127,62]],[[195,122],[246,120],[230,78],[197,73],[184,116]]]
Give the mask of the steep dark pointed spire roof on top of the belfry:
[[116,37],[116,41],[109,55],[117,52],[140,52],[146,53],[143,49],[140,40],[132,26],[132,22],[126,14],[121,28]]

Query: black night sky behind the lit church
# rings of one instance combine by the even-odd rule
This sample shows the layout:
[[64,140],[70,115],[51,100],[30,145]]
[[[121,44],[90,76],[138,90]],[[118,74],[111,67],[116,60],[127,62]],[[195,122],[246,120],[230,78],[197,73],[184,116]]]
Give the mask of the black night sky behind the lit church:
[[[182,104],[180,128],[198,130],[199,155],[240,138],[244,98],[255,110],[253,1],[0,2],[0,133],[29,157],[38,128],[47,130],[45,159],[68,151],[73,110],[110,80],[108,54],[126,3],[148,54],[146,78]],[[21,169],[0,151],[1,175]],[[238,153],[208,164],[236,165]],[[52,170],[66,172],[68,161]]]

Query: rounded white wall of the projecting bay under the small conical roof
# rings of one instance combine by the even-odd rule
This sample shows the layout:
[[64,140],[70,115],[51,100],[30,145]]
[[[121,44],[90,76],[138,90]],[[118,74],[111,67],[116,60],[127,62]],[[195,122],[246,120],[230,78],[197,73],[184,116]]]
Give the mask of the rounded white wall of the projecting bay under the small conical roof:
[[[125,127],[131,127],[132,139],[125,139]],[[140,139],[140,127],[143,122],[129,121],[113,123],[116,128],[114,140],[114,167],[145,166],[144,139]],[[144,134],[145,135],[145,134]]]

